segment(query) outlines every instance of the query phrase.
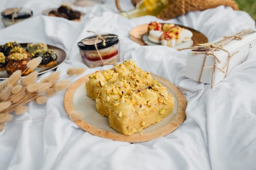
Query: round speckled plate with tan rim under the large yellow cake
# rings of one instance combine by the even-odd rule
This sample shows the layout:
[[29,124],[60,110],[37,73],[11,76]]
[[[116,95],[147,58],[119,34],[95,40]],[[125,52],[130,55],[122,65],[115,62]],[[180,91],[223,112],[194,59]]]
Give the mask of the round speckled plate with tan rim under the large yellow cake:
[[174,96],[175,108],[171,114],[159,123],[145,128],[142,132],[132,136],[125,136],[109,127],[108,118],[102,117],[98,113],[96,110],[96,102],[86,95],[85,82],[89,80],[88,77],[90,75],[80,78],[67,89],[64,96],[64,107],[67,115],[69,116],[72,110],[77,110],[83,116],[83,120],[75,121],[79,128],[92,135],[112,140],[135,143],[149,141],[160,136],[166,136],[176,130],[186,118],[185,110],[187,101],[183,93],[171,82],[155,74],[151,75],[163,86],[166,86],[168,92]]

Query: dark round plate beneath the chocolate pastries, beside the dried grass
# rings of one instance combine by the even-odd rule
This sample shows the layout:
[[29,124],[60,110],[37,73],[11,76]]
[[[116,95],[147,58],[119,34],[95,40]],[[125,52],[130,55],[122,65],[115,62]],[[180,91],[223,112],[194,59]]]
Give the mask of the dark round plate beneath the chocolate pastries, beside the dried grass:
[[[27,44],[29,43],[20,43],[21,47],[23,47],[24,49],[26,49]],[[48,46],[48,49],[52,49],[56,52],[58,56],[57,63],[48,67],[36,68],[35,71],[38,71],[39,72],[38,74],[43,74],[47,71],[55,69],[66,60],[66,52],[64,50],[51,45],[47,45],[47,46]],[[7,79],[8,77],[9,77],[9,74],[7,74],[6,70],[0,71],[0,80]]]

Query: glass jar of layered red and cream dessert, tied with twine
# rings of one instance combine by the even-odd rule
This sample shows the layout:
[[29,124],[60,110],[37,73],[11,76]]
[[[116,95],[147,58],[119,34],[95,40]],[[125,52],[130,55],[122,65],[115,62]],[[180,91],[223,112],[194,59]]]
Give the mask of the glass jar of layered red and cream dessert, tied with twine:
[[92,35],[78,42],[83,62],[94,68],[120,61],[119,39],[115,34]]

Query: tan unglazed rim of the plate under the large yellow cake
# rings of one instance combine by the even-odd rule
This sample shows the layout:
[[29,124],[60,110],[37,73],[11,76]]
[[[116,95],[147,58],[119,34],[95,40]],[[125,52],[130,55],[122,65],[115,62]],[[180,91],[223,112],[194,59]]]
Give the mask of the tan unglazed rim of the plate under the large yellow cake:
[[[66,110],[68,117],[70,116],[70,112],[75,110],[75,107],[73,105],[73,98],[76,90],[79,88],[80,85],[85,85],[85,82],[89,80],[90,75],[91,74],[88,74],[79,78],[67,89],[64,95],[64,108]],[[177,86],[173,85],[168,80],[152,73],[151,75],[154,79],[157,79],[162,85],[167,86],[169,90],[173,92],[174,97],[177,100],[177,103],[176,103],[177,110],[176,110],[176,113],[174,113],[175,114],[174,118],[172,119],[171,122],[168,122],[163,127],[149,133],[143,133],[142,131],[142,133],[137,133],[132,136],[125,136],[118,132],[113,133],[113,132],[100,129],[97,126],[90,124],[86,120],[76,120],[74,122],[79,126],[79,128],[81,128],[82,130],[92,135],[96,135],[99,137],[108,138],[112,140],[117,140],[117,141],[130,142],[130,143],[149,141],[160,136],[166,136],[171,132],[175,131],[186,118],[186,113],[185,113],[186,106],[187,106],[186,98],[184,97],[183,93],[179,90],[179,88],[177,88]],[[95,105],[93,107],[95,107]]]

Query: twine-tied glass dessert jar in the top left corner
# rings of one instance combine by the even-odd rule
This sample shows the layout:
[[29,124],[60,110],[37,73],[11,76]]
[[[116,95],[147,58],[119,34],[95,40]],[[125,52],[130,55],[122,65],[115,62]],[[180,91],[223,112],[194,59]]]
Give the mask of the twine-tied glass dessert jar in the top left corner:
[[32,10],[28,8],[8,8],[1,12],[5,27],[13,25],[33,16]]

